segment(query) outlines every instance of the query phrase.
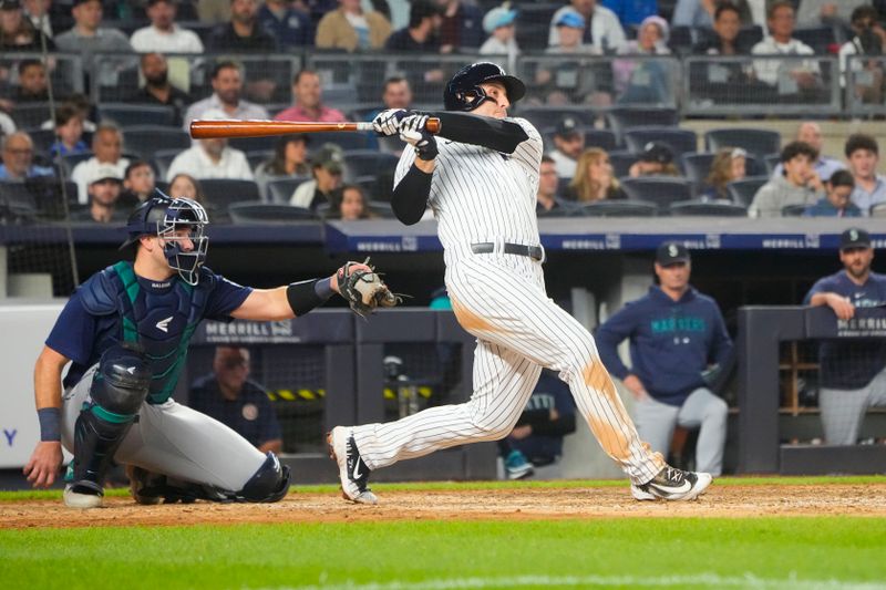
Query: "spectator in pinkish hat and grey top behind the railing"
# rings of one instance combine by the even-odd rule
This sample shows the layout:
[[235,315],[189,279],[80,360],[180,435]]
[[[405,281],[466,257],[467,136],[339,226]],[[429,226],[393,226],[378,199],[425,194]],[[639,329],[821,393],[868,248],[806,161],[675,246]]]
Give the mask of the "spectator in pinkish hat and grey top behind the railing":
[[[667,55],[668,21],[661,17],[647,17],[640,24],[636,41],[618,48],[620,55]],[[670,104],[670,70],[667,64],[652,60],[614,60],[612,75],[619,103]]]

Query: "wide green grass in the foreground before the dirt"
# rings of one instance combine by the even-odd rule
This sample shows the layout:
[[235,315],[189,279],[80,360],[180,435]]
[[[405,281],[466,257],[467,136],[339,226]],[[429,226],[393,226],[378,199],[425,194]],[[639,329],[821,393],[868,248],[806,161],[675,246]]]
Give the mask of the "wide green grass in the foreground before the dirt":
[[0,588],[878,588],[884,555],[846,517],[28,529]]

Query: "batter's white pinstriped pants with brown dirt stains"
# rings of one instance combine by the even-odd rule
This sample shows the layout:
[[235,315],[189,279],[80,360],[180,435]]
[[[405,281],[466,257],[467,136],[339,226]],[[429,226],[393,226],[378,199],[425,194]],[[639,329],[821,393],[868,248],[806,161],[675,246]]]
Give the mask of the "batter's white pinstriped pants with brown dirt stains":
[[637,435],[593,337],[548,298],[542,263],[499,253],[446,256],[446,288],[459,323],[477,338],[474,392],[463,404],[352,428],[370,469],[441,448],[507,436],[538,381],[558,371],[591,432],[631,482],[664,466]]

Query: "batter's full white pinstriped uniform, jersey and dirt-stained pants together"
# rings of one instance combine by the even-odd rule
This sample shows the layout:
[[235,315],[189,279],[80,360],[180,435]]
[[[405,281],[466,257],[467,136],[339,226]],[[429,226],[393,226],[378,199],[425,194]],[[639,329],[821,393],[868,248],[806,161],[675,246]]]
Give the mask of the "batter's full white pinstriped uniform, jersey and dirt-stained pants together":
[[[506,436],[526,405],[542,366],[559,372],[600,445],[635,484],[664,466],[642,443],[599,361],[594,339],[545,292],[542,262],[503,253],[505,242],[538,246],[535,214],[542,138],[508,118],[528,139],[513,154],[437,139],[429,204],[445,249],[446,288],[459,323],[477,338],[471,400],[387,424],[352,428],[370,469],[440,448]],[[403,152],[394,183],[413,163]],[[472,244],[493,242],[491,253]]]

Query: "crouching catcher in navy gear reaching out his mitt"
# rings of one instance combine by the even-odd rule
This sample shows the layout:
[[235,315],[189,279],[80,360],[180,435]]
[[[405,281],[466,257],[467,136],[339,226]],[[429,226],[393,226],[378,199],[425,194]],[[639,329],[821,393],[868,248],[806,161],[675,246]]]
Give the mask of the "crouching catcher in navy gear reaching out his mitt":
[[68,301],[34,369],[40,443],[24,467],[34,487],[54,482],[63,444],[74,456],[64,488],[73,508],[102,505],[112,459],[127,464],[140,504],[286,496],[289,469],[274,453],[172,398],[190,335],[205,318],[300,317],[336,292],[363,315],[398,298],[358,262],[276,289],[239,286],[204,267],[207,225],[194,200],[148,199],[121,246],[135,249],[134,262],[93,275]]

